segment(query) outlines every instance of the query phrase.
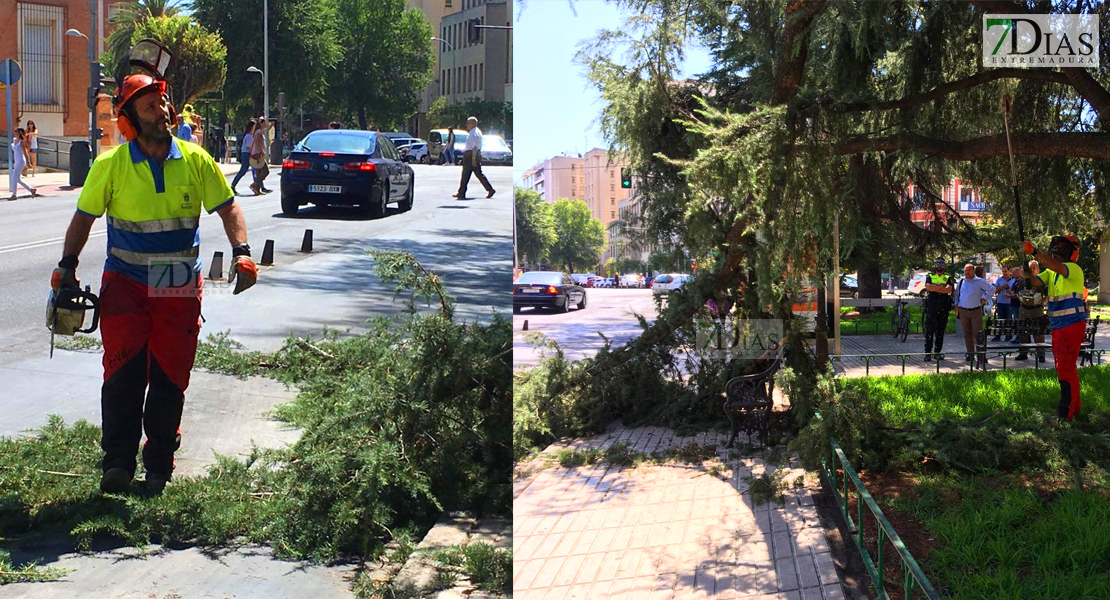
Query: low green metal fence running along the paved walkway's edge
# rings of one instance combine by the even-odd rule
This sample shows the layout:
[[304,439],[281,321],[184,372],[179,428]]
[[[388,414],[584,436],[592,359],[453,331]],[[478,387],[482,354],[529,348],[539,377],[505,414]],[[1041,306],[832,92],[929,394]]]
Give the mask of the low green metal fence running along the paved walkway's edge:
[[[816,415],[816,418],[820,418],[820,414]],[[915,590],[920,590],[929,600],[940,600],[940,594],[934,589],[932,583],[929,583],[928,578],[925,577],[925,572],[921,571],[917,561],[909,553],[909,549],[906,548],[901,538],[898,537],[898,532],[895,531],[890,521],[882,515],[882,510],[875,502],[875,499],[871,498],[864,482],[859,480],[859,476],[851,468],[848,457],[840,449],[840,445],[837,444],[836,438],[830,436],[829,445],[833,451],[830,460],[826,461],[824,458],[821,459],[823,475],[825,480],[828,481],[829,489],[833,490],[840,516],[844,517],[845,522],[848,525],[851,541],[856,543],[856,549],[859,550],[859,556],[864,559],[864,567],[867,569],[867,574],[870,576],[871,582],[875,584],[879,599],[888,600],[890,598],[887,594],[882,579],[884,567],[887,560],[885,556],[886,542],[889,541],[897,555],[895,558],[901,563],[902,572],[906,573],[902,581],[902,590],[906,593],[906,599],[909,600],[912,598]],[[839,487],[837,486],[837,470],[842,476]],[[851,481],[851,488],[848,487],[848,481]],[[848,509],[848,498],[852,490],[855,490],[856,495],[856,519],[851,518],[851,511]],[[874,527],[878,530],[877,559],[871,558],[870,551],[864,543],[864,525],[867,522],[864,513],[865,506],[872,518]]]

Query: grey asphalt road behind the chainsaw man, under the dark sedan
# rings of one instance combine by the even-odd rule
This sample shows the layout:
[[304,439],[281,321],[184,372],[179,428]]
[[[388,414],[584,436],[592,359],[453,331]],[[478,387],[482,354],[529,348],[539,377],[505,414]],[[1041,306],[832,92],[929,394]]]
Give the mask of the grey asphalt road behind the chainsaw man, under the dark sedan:
[[[460,167],[414,165],[413,210],[391,207],[384,217],[370,218],[354,209],[302,206],[296,217],[281,214],[279,175],[266,180],[275,190],[262,196],[240,196],[246,214],[255,261],[266,240],[275,243],[275,266],[262,268],[253,289],[232,296],[218,285],[205,285],[204,332],[231,329],[232,337],[252,349],[275,349],[286,334],[319,334],[324,326],[361,326],[369,317],[394,314],[404,302],[372,274],[366,247],[412,252],[425,267],[438,273],[456,296],[457,315],[488,318],[498,307],[508,312],[502,289],[512,272],[512,172],[485,171],[498,191],[475,200],[456,200]],[[230,180],[230,177],[229,177]],[[33,184],[34,182],[32,182]],[[240,192],[246,192],[240,182]],[[470,193],[482,189],[471,182]],[[79,190],[50,190],[39,199],[0,203],[0,366],[47,352],[44,328],[48,282],[61,257],[62,237],[73,214]],[[248,194],[250,192],[246,192]],[[100,287],[105,247],[105,223],[98,220],[78,275],[82,285]],[[297,252],[305,230],[313,230],[313,254]],[[216,215],[201,218],[201,256],[205,274],[215,251],[230,247]],[[202,333],[203,335],[203,333]],[[0,390],[0,399],[3,393]],[[2,405],[0,405],[2,406]]]

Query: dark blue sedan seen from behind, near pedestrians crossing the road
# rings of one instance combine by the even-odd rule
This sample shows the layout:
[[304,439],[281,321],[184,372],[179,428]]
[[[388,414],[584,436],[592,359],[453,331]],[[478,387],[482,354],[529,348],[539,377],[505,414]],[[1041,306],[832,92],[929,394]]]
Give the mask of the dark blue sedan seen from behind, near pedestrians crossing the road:
[[413,169],[384,135],[373,131],[325,129],[310,133],[282,163],[281,212],[302,204],[360,206],[371,216],[396,203],[413,206]]

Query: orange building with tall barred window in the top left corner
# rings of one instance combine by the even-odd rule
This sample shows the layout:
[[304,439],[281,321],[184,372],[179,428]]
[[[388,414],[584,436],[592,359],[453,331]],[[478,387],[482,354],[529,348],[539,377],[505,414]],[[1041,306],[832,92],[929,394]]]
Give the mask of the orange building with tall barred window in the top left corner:
[[[97,9],[98,35],[93,40],[98,57],[104,51],[109,20],[123,0],[92,0]],[[20,2],[0,0],[0,59],[14,59],[23,75],[12,87],[12,114],[26,125],[34,121],[43,138],[83,138],[89,134],[89,42],[67,35],[77,29],[92,31],[90,0],[51,0]],[[108,74],[108,73],[105,73]],[[0,128],[8,128],[7,90],[0,85]],[[99,104],[98,125],[104,129],[102,142],[114,138],[111,106]]]

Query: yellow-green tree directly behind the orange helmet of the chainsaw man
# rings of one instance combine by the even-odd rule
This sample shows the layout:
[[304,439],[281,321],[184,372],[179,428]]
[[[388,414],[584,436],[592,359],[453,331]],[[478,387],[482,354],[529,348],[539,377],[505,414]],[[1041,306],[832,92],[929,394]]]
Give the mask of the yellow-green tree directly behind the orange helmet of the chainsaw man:
[[135,24],[131,39],[135,42],[143,38],[158,40],[173,53],[165,80],[179,110],[223,85],[228,48],[220,35],[192,18],[179,14],[141,21]]

